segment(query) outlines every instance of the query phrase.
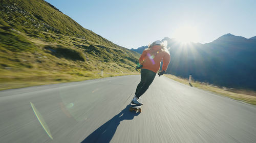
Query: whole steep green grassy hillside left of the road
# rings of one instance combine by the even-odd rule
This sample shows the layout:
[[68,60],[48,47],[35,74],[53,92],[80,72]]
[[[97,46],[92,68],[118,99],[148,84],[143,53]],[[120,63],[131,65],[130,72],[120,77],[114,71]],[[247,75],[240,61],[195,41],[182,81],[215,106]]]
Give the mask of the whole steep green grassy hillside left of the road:
[[0,2],[0,90],[137,74],[138,53],[83,28],[49,3]]

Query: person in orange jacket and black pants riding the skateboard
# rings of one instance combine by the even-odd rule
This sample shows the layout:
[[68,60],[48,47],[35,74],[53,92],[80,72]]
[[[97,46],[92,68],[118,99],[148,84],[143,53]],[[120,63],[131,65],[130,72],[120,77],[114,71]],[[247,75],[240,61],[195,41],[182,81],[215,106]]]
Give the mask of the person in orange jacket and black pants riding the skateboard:
[[145,49],[141,54],[139,59],[140,65],[136,67],[136,69],[141,69],[140,83],[137,86],[134,98],[131,103],[142,105],[138,99],[146,92],[148,87],[150,87],[150,84],[153,82],[156,73],[160,69],[161,61],[163,61],[163,66],[158,75],[160,76],[165,73],[170,62],[170,54],[166,46],[166,41],[162,42],[158,40],[149,45],[148,48]]

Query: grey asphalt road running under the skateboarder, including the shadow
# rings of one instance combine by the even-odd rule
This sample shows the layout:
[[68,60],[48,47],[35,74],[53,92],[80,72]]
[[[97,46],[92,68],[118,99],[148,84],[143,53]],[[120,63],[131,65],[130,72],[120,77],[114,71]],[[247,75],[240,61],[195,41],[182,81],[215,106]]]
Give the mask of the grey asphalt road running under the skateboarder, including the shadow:
[[256,106],[161,76],[129,111],[140,76],[0,92],[0,142],[256,142]]

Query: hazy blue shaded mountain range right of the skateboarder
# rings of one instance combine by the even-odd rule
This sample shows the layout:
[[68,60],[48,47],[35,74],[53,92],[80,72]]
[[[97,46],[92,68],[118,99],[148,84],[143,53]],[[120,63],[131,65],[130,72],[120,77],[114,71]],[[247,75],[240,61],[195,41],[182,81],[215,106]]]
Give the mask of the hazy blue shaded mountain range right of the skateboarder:
[[164,38],[170,47],[167,73],[220,86],[256,90],[256,39],[226,34],[206,43],[179,43]]

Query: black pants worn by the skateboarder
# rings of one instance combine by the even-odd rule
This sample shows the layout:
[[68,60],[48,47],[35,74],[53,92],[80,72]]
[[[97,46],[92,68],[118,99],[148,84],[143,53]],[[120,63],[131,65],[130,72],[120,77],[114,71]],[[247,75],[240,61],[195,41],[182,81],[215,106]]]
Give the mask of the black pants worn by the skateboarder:
[[135,95],[139,98],[142,94],[146,92],[150,84],[153,82],[156,73],[151,70],[141,69],[140,71],[140,83],[137,86]]

